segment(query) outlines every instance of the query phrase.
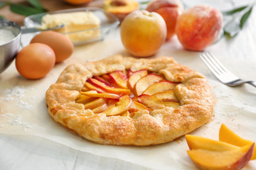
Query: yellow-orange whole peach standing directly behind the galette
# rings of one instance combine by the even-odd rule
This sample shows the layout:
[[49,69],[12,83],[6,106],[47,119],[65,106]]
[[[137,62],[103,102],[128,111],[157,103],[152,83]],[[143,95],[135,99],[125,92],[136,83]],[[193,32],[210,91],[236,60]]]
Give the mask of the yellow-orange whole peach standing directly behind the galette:
[[125,49],[134,56],[154,55],[166,40],[166,23],[155,12],[134,11],[121,24],[120,34]]

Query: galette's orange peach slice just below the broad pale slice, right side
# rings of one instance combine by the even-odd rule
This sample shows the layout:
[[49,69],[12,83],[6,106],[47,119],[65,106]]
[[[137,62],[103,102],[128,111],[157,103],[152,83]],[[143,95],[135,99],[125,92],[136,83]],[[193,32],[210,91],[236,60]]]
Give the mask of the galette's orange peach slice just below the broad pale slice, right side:
[[145,91],[143,91],[142,94],[152,95],[152,94],[159,93],[161,91],[174,90],[176,85],[177,85],[176,83],[171,81],[159,81],[149,86]]

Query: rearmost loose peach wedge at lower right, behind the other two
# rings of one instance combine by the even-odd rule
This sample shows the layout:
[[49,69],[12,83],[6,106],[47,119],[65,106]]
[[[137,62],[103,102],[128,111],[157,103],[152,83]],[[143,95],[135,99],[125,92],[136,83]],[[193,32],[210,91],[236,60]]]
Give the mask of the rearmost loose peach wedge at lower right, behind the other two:
[[[252,141],[242,139],[242,137],[238,136],[230,130],[226,125],[222,124],[220,126],[219,131],[219,140],[222,142],[227,142],[229,144],[238,146],[238,147],[244,147],[245,145],[252,145]],[[251,160],[256,159],[256,146],[254,148]]]

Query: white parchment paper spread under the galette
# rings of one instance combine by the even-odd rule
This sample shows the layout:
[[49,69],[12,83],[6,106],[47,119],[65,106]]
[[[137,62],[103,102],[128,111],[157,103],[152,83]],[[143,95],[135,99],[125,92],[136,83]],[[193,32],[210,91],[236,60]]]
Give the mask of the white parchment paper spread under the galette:
[[[23,45],[27,45],[32,37],[33,35],[23,35]],[[223,46],[225,42],[219,42],[209,50],[218,55],[221,62],[238,76],[256,80],[256,63],[227,60],[225,55],[228,55],[228,50],[220,50]],[[56,64],[46,77],[38,80],[24,79],[16,71],[15,64],[11,64],[11,67],[0,75],[0,132],[45,137],[73,149],[122,159],[150,169],[197,169],[186,153],[188,146],[184,137],[150,147],[98,145],[82,139],[50,118],[45,93],[50,84],[58,79],[60,72],[68,64],[100,60],[114,54],[129,56],[119,38],[75,47],[75,52],[68,60]],[[191,134],[218,140],[220,125],[225,123],[241,137],[256,142],[256,88],[250,85],[229,87],[221,84],[200,60],[200,54],[183,50],[176,38],[166,42],[156,54],[174,57],[181,64],[203,73],[210,81],[216,99],[215,117]],[[15,92],[19,95],[15,95]],[[256,169],[256,161],[251,161],[245,169]]]

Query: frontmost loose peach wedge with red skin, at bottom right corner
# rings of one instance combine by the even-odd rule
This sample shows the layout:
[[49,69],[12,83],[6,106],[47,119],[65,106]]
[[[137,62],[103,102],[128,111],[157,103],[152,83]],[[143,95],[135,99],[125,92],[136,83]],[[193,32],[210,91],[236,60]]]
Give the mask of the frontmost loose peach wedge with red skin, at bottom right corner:
[[253,145],[228,151],[188,150],[188,156],[200,169],[242,169],[252,157]]

